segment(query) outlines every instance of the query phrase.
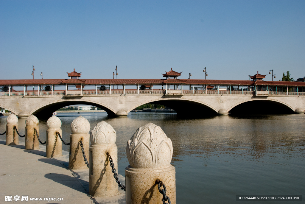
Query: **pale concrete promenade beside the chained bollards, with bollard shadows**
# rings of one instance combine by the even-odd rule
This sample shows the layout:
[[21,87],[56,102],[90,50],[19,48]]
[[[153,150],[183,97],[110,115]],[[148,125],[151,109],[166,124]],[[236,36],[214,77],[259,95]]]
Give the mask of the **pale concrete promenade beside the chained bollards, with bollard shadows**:
[[[12,195],[12,202],[21,202],[22,195],[28,195],[28,203],[125,203],[125,192],[119,189],[119,195],[109,198],[94,198],[89,195],[89,170],[69,170],[69,152],[63,156],[46,158],[46,148],[40,145],[38,150],[25,150],[25,143],[5,145],[0,140],[0,203],[5,196]],[[125,177],[119,175],[125,184]],[[113,178],[114,179],[114,178]],[[20,200],[15,202],[14,196]],[[44,201],[45,198],[63,198],[62,201]],[[42,201],[31,201],[30,198],[42,198]],[[21,202],[23,203],[23,201]]]

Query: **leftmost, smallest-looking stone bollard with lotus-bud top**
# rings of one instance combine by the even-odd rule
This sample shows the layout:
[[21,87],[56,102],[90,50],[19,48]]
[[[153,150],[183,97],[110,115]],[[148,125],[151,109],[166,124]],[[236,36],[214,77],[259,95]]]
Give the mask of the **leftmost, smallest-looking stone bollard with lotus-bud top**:
[[6,127],[5,127],[5,145],[18,145],[19,144],[19,136],[14,130],[14,126],[16,126],[18,130],[18,118],[14,114],[10,114],[6,118]]

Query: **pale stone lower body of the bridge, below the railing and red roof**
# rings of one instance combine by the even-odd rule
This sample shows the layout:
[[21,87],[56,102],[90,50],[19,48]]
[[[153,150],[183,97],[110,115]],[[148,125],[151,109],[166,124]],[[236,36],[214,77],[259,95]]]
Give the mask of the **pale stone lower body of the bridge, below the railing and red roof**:
[[97,106],[109,116],[126,116],[146,103],[170,107],[181,115],[202,116],[228,113],[304,113],[305,95],[242,94],[117,94],[0,96],[0,107],[19,118],[31,114],[48,118],[64,106]]

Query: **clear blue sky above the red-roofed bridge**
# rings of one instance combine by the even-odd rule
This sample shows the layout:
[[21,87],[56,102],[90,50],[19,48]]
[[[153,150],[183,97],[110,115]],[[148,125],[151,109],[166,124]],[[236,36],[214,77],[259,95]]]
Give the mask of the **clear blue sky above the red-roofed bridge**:
[[305,76],[305,1],[2,0],[0,26],[1,79]]

